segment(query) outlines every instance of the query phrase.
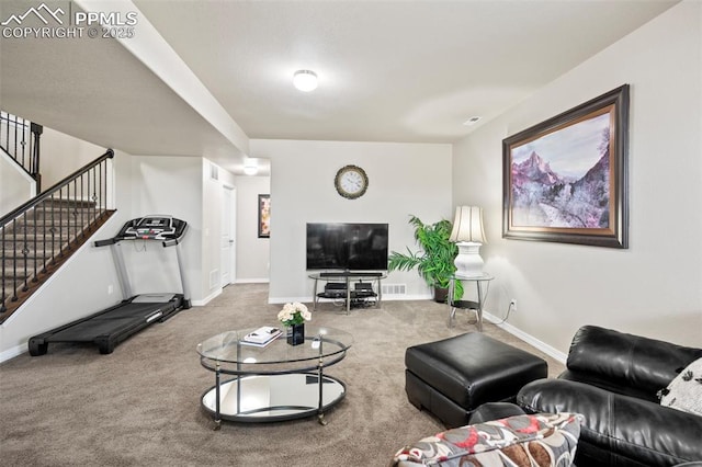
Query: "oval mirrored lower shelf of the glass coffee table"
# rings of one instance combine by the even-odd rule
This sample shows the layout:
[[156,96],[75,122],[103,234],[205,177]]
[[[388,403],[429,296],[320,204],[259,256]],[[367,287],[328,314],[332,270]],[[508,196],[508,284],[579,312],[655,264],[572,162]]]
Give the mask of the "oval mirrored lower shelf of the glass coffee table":
[[[202,396],[202,407],[216,413],[216,386]],[[222,383],[219,415],[236,422],[302,419],[329,410],[347,394],[346,385],[317,373],[241,376]],[[320,399],[321,398],[321,402]]]

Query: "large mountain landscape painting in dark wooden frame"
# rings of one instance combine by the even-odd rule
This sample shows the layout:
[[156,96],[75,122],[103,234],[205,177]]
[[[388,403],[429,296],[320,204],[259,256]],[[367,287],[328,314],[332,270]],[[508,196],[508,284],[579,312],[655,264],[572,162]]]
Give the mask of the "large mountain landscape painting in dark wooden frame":
[[502,237],[629,248],[629,84],[502,140]]

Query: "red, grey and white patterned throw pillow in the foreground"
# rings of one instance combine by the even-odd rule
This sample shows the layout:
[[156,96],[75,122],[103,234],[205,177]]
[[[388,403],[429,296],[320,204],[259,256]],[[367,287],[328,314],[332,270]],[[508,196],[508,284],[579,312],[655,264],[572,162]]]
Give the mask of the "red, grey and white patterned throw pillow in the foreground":
[[582,415],[537,413],[461,426],[400,449],[392,466],[567,467]]

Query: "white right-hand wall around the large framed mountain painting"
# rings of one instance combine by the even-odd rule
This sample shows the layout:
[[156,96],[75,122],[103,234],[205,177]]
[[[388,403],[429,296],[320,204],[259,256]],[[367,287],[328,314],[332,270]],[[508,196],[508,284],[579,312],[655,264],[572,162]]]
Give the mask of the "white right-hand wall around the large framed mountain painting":
[[[501,140],[631,84],[630,248],[501,238]],[[564,354],[582,324],[702,346],[702,3],[687,1],[455,145],[454,205],[484,206],[487,308]]]

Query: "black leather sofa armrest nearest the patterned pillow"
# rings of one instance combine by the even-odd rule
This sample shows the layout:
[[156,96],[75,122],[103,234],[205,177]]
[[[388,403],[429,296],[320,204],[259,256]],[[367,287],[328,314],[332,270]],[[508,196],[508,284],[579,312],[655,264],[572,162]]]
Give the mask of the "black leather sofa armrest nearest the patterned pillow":
[[601,465],[626,465],[623,459],[658,466],[702,460],[702,417],[692,413],[564,379],[528,384],[517,403],[526,412],[582,414],[578,451]]

